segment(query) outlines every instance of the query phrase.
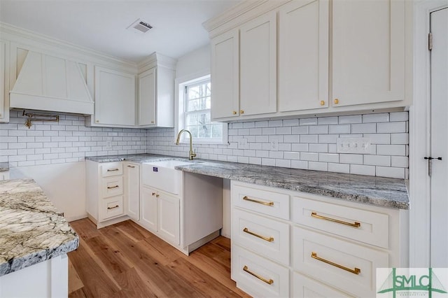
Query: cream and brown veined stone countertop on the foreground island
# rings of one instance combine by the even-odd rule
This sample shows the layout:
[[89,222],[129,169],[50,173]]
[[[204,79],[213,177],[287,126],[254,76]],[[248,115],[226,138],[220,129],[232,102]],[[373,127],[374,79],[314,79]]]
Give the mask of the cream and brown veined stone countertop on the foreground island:
[[32,179],[0,181],[0,276],[78,248],[78,235]]

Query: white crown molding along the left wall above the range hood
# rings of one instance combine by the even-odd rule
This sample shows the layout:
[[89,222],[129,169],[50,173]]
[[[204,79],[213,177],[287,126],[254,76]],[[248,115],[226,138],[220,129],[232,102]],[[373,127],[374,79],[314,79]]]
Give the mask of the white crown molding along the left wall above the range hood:
[[[102,60],[113,64],[120,64],[121,66],[125,66],[127,68],[136,68],[137,64],[135,62],[131,62],[125,59],[120,59],[118,57],[107,55],[103,52],[99,52],[96,50],[92,50],[90,48],[85,48],[80,45],[76,45],[74,43],[69,43],[67,41],[62,41],[57,38],[52,38],[45,34],[36,33],[34,31],[23,29],[20,27],[13,26],[12,24],[7,24],[5,22],[0,22],[0,36],[5,34],[11,34],[13,36],[18,36],[19,38],[26,38],[30,41],[43,43],[45,45],[50,45],[55,48],[59,48],[60,50],[68,50],[71,52],[77,52],[78,54],[85,55],[87,57],[83,57],[83,59],[92,60]],[[3,36],[1,36],[3,37]],[[6,38],[8,39],[8,38]],[[90,59],[89,59],[90,58]]]

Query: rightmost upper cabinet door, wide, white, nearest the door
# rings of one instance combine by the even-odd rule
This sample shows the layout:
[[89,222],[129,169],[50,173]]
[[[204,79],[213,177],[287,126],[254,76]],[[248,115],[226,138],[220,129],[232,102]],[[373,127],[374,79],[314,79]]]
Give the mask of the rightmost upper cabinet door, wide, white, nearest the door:
[[402,101],[405,1],[333,1],[332,106]]

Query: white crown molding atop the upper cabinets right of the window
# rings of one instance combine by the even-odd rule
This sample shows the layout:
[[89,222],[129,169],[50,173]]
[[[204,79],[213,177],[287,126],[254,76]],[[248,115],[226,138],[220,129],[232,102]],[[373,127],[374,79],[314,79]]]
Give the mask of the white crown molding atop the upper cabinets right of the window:
[[246,0],[203,22],[202,27],[209,32],[210,38],[214,38],[289,1],[291,0]]

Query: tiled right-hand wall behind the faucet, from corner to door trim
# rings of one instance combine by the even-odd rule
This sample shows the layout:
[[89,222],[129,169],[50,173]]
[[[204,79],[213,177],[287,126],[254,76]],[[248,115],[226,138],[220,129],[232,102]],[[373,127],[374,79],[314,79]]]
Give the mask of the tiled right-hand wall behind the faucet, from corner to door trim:
[[[202,159],[408,178],[408,135],[407,112],[379,113],[232,123],[228,145],[194,147]],[[188,146],[175,146],[174,137],[174,129],[148,130],[148,153],[187,157]],[[339,137],[370,138],[370,154],[337,153]],[[274,140],[278,149],[269,150]]]

